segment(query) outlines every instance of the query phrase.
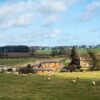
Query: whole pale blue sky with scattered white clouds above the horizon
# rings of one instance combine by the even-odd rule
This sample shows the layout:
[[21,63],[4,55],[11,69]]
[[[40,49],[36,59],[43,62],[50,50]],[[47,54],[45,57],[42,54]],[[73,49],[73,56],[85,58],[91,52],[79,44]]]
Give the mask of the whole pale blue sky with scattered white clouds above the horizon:
[[0,0],[0,46],[100,44],[100,0]]

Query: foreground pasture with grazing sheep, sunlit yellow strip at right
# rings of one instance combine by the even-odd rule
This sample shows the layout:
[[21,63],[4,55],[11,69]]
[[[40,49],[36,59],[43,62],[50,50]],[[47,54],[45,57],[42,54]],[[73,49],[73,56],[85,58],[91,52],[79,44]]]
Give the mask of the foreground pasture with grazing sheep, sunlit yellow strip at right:
[[[0,100],[100,100],[100,72],[56,73],[47,78],[0,74]],[[73,79],[77,82],[72,83]]]

